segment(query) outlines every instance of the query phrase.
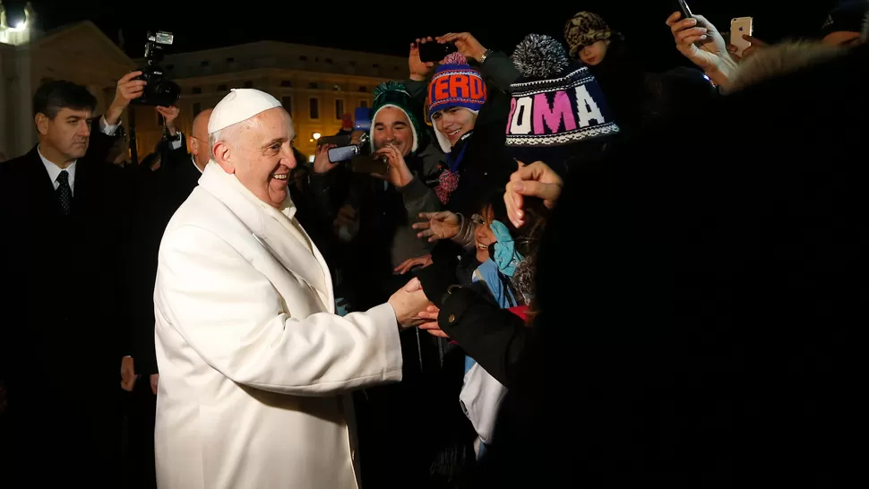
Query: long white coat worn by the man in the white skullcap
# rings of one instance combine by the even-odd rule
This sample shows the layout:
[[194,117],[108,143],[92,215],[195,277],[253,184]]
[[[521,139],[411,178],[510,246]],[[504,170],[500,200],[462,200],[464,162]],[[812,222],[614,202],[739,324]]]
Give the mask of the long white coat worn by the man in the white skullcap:
[[169,221],[154,291],[161,489],[357,487],[349,390],[401,380],[391,305],[334,314],[293,218],[213,161]]

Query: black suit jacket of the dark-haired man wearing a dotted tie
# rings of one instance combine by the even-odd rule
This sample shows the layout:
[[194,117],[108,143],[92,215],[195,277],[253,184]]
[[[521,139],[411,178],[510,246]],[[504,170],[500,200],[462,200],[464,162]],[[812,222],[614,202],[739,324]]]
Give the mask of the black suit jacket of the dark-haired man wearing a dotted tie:
[[125,278],[133,192],[106,162],[111,142],[91,133],[69,216],[36,148],[0,164],[0,378],[25,461],[44,459],[47,442],[79,469],[117,451],[121,358],[134,355]]

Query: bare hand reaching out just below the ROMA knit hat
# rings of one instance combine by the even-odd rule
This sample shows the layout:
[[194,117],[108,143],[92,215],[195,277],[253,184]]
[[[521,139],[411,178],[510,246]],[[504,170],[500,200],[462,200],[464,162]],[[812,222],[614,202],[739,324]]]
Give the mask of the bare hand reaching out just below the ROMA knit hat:
[[530,165],[519,162],[519,169],[510,176],[503,202],[507,205],[507,216],[515,227],[525,225],[524,197],[538,197],[548,209],[555,207],[561,195],[564,181],[542,161]]

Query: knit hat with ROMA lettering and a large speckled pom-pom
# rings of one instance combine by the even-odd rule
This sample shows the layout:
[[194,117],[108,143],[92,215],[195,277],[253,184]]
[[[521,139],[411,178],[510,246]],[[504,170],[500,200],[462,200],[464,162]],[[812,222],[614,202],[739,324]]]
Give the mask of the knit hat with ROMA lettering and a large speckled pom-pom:
[[567,57],[557,40],[529,34],[512,54],[521,76],[510,85],[507,149],[526,163],[552,166],[571,145],[619,132],[607,99],[589,69]]

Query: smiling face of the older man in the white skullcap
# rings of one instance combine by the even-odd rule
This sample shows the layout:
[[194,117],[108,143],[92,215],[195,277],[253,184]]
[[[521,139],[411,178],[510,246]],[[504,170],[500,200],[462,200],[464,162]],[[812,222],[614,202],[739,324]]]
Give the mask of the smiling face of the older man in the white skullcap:
[[262,202],[280,208],[289,193],[289,172],[296,167],[292,119],[275,107],[236,125],[214,142],[215,160]]

